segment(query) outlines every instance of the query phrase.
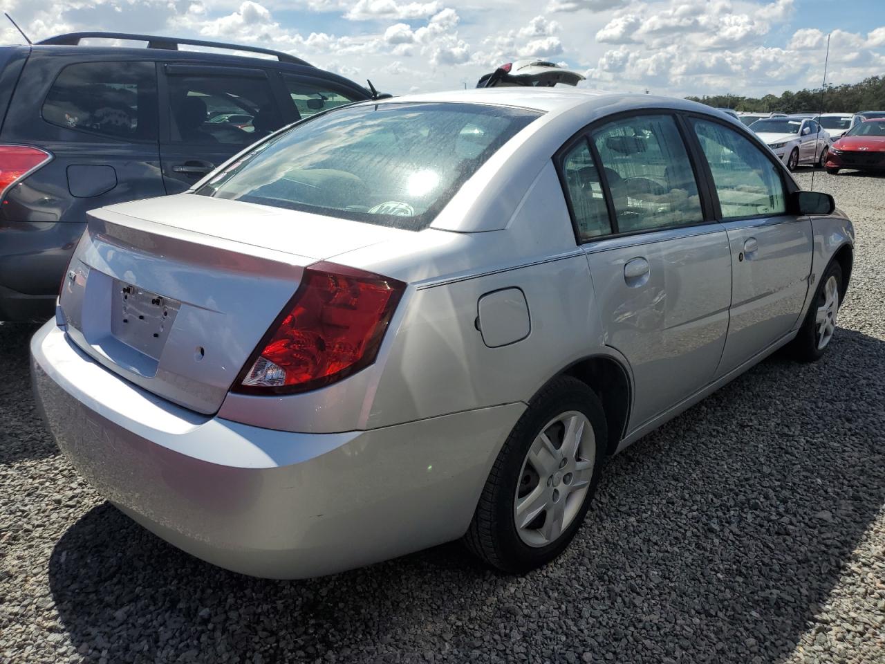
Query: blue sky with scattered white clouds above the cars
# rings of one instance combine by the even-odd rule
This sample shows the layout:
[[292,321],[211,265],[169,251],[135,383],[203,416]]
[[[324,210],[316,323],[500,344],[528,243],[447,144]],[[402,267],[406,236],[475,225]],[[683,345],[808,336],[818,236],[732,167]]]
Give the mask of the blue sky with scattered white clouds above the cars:
[[[596,89],[762,97],[885,73],[885,0],[2,0],[33,40],[76,30],[283,50],[393,94],[543,58]],[[2,17],[0,17],[2,18]],[[5,20],[5,19],[3,19]],[[20,43],[12,26],[0,42]]]

